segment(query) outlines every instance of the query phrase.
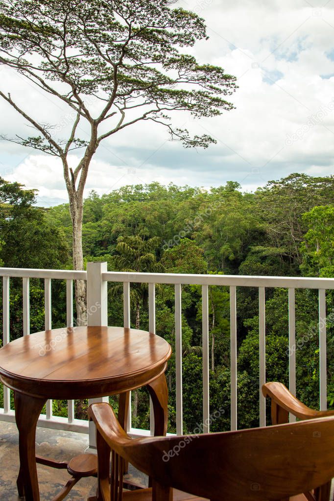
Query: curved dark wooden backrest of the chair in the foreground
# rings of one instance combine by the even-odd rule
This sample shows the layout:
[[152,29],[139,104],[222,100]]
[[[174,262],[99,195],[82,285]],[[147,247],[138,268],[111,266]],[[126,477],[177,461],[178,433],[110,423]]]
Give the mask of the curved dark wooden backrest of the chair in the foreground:
[[285,499],[334,477],[334,417],[241,431],[121,439],[158,484],[213,500]]

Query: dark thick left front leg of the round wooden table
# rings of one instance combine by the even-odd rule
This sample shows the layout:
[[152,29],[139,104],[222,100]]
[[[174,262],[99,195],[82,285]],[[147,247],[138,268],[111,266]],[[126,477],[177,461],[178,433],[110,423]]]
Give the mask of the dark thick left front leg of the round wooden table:
[[36,426],[46,400],[15,392],[15,419],[19,429],[20,471],[17,479],[19,496],[39,501],[36,468]]

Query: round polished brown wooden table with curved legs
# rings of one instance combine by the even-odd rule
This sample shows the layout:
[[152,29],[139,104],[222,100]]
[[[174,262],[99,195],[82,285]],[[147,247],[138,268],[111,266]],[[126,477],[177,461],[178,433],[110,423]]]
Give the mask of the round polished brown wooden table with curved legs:
[[[154,433],[165,435],[168,389],[164,372],[170,355],[170,345],[163,338],[121,327],[52,329],[1,348],[0,379],[15,391],[19,495],[24,493],[26,501],[40,499],[36,426],[49,398],[71,400],[120,394],[119,419],[125,427],[129,391],[146,385],[153,401]],[[47,462],[52,465],[52,461]]]

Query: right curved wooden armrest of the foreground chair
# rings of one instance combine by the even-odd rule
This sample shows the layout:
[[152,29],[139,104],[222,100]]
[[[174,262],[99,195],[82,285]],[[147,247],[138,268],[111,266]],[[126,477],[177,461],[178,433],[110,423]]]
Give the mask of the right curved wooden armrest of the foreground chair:
[[286,411],[286,413],[290,412],[301,420],[334,415],[333,410],[318,411],[310,409],[293,396],[286,386],[276,381],[264,384],[262,386],[262,393],[264,397],[271,398],[272,404],[276,404],[276,406]]

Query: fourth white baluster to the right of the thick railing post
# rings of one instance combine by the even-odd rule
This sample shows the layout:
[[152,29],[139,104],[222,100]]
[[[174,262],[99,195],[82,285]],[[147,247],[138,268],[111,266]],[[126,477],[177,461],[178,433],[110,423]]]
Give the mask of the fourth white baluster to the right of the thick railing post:
[[203,333],[203,433],[209,433],[209,287],[202,286],[202,333]]

